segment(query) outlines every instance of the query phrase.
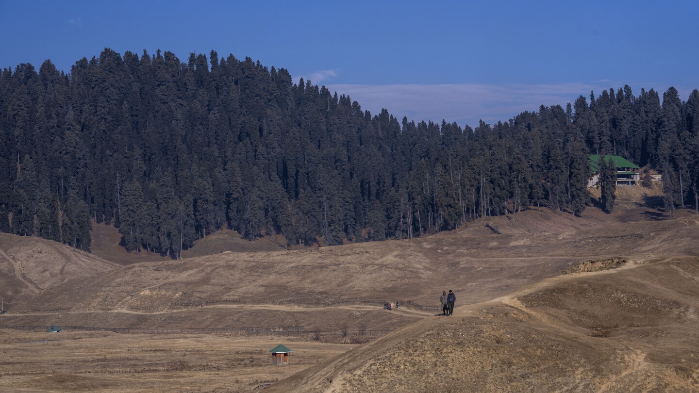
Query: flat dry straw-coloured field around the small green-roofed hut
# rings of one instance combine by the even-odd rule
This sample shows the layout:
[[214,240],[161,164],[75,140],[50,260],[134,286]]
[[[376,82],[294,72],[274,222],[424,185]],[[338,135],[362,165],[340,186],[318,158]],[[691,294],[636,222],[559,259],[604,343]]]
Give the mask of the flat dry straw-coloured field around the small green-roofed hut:
[[[288,366],[273,366],[279,343]],[[2,392],[247,392],[354,344],[291,337],[139,335],[0,330]]]

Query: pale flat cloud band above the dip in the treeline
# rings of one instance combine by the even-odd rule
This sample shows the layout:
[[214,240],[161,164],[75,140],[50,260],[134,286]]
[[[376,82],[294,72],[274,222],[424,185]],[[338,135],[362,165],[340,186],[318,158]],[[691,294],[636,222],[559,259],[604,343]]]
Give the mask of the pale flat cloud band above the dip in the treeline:
[[[313,83],[316,83],[313,80]],[[590,91],[598,96],[603,90],[613,87],[618,90],[623,83],[608,80],[594,83],[558,83],[550,85],[505,84],[459,84],[459,85],[348,85],[327,86],[338,94],[347,94],[358,101],[364,110],[377,114],[382,108],[402,119],[432,120],[433,122],[458,122],[471,127],[479,120],[493,124],[507,121],[519,113],[537,111],[541,105],[560,105],[565,108],[583,95],[588,98]],[[634,94],[640,94],[640,87],[649,90],[653,85],[638,85]],[[668,87],[660,87],[661,94]],[[680,97],[689,97],[691,90],[681,89]]]

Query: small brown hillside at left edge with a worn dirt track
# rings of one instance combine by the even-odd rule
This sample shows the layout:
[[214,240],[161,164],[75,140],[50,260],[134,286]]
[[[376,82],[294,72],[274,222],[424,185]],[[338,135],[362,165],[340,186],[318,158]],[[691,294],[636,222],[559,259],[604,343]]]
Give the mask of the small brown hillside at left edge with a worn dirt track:
[[0,293],[6,302],[117,267],[89,252],[55,241],[0,234]]

